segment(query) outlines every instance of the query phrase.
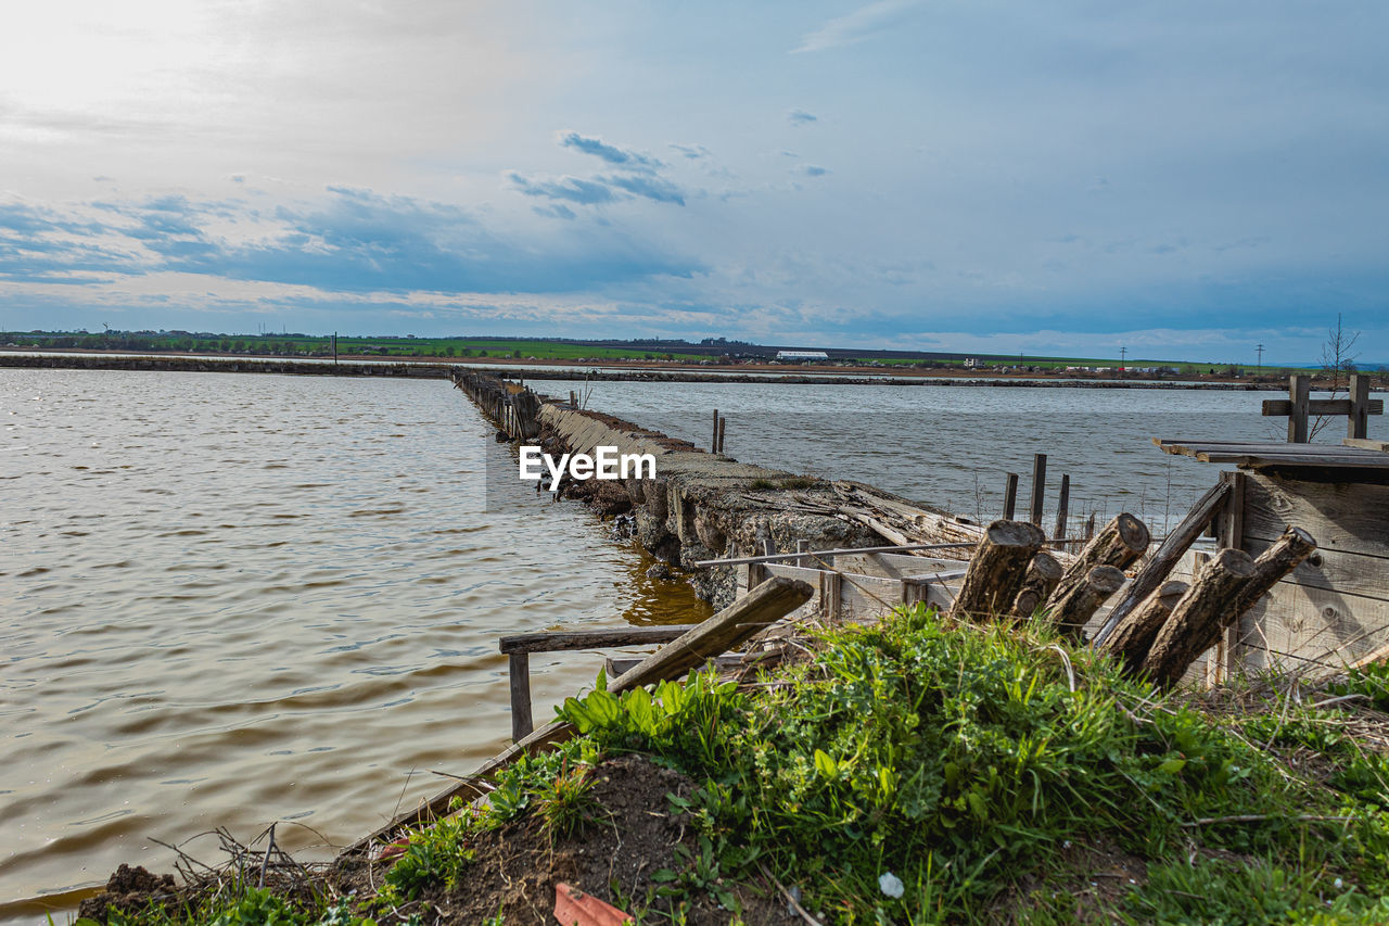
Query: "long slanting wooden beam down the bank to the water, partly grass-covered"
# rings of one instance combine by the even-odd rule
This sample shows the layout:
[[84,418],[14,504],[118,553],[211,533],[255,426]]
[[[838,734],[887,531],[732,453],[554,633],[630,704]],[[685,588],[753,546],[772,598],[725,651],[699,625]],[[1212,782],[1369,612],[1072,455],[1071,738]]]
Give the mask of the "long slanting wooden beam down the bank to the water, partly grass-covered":
[[[676,679],[704,659],[717,656],[729,647],[736,647],[768,624],[775,623],[796,610],[811,596],[811,588],[803,581],[790,578],[768,578],[765,583],[739,598],[701,624],[696,624],[669,645],[647,656],[631,672],[625,672],[608,683],[608,691],[621,694],[665,679]],[[454,781],[449,788],[404,813],[397,815],[374,833],[357,840],[343,855],[356,855],[369,848],[378,840],[394,834],[406,826],[417,826],[443,816],[454,798],[472,801],[492,788],[488,781],[497,772],[524,755],[547,752],[557,744],[574,738],[572,723],[554,720],[531,736],[511,744],[497,755],[483,762],[472,774]]]

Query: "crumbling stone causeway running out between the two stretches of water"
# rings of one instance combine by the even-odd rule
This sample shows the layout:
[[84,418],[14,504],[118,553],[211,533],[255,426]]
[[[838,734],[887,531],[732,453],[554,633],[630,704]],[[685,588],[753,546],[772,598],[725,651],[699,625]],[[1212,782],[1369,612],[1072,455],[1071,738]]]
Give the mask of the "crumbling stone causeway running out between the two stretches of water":
[[[708,453],[658,431],[600,412],[571,407],[497,377],[460,371],[454,385],[499,427],[499,439],[538,444],[551,456],[593,455],[597,446],[656,457],[654,478],[561,480],[561,496],[603,514],[631,516],[651,555],[690,573],[715,608],[733,599],[733,567],[696,569],[710,559],[886,544],[972,542],[965,519],[853,482],[832,482]],[[963,555],[967,556],[968,551]]]

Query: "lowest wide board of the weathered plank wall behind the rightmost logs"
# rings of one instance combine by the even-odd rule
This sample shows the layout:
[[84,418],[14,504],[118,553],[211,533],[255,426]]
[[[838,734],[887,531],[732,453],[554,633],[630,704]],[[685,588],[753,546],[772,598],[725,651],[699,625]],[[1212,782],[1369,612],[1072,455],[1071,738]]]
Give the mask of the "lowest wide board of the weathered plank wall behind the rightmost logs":
[[1389,641],[1389,602],[1289,583],[1249,610],[1246,669],[1313,670],[1354,663]]

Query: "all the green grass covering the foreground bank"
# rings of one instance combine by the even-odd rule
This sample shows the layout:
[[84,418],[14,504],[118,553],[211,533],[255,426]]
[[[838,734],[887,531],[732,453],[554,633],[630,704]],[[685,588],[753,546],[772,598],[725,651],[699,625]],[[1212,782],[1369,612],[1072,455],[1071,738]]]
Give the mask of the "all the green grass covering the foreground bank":
[[[639,752],[700,784],[669,798],[696,840],[653,876],[658,897],[617,898],[639,922],[694,895],[736,922],[735,886],[763,877],[843,925],[1389,922],[1389,726],[1367,713],[1389,706],[1386,672],[1315,701],[1253,685],[1207,704],[921,606],[806,642],[813,658],[753,687],[692,673],[614,695],[600,676],[558,709],[579,738],[417,833],[342,915],[465,886],[471,834],[508,820],[582,834],[604,812],[593,766]],[[1096,888],[1121,855],[1139,876]]]

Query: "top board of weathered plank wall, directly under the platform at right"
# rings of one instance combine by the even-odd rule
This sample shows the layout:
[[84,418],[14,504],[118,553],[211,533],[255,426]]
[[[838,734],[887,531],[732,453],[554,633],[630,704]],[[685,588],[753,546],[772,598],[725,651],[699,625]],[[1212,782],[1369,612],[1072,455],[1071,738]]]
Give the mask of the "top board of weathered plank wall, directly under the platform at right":
[[1250,473],[1245,485],[1245,537],[1274,541],[1289,524],[1317,538],[1322,553],[1389,558],[1389,485]]

